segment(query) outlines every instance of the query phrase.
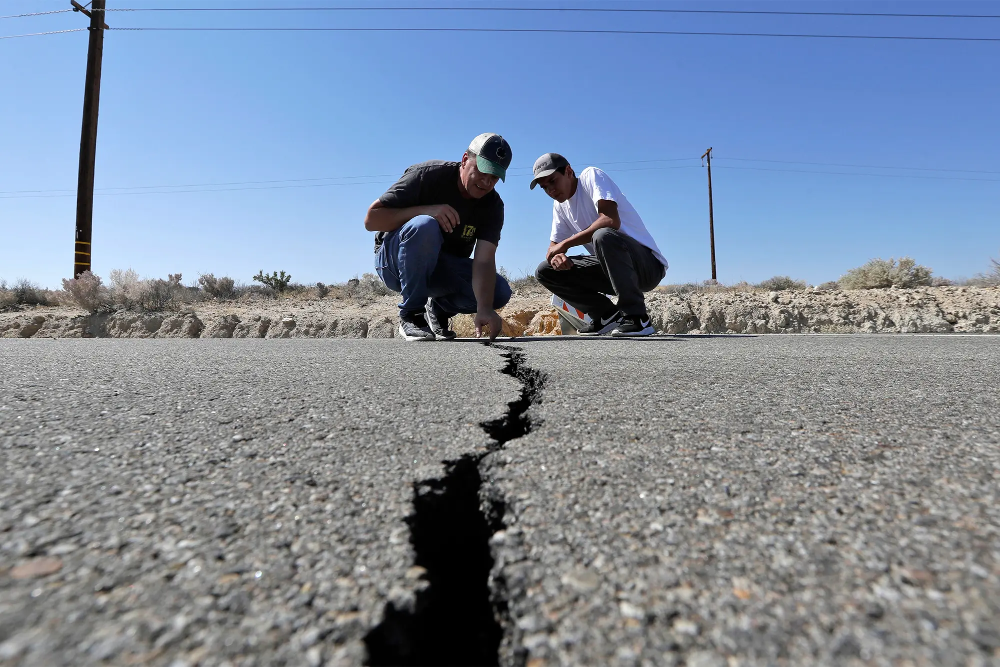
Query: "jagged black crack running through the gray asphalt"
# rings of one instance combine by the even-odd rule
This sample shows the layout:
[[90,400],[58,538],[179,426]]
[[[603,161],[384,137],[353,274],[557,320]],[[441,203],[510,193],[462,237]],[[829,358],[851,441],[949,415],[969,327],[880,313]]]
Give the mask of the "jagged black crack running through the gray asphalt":
[[412,610],[388,603],[382,622],[365,636],[365,664],[372,667],[500,664],[503,625],[511,619],[503,582],[491,591],[490,538],[506,527],[506,504],[483,497],[480,464],[531,432],[527,412],[541,401],[546,376],[529,368],[520,350],[488,345],[501,351],[507,362],[501,373],[520,383],[520,394],[503,416],[479,425],[492,439],[487,452],[445,461],[444,477],[414,484],[406,523],[427,585]]

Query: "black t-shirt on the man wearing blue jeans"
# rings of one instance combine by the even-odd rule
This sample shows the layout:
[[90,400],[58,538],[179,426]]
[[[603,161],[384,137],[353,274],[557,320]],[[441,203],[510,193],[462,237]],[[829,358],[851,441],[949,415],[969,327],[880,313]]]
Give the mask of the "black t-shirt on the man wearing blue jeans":
[[[503,228],[503,199],[492,190],[479,199],[466,199],[458,189],[460,162],[430,160],[406,169],[396,183],[378,198],[386,208],[406,208],[448,204],[458,211],[460,223],[445,232],[441,249],[459,257],[472,255],[476,239],[500,242]],[[382,245],[384,231],[375,234],[375,251]]]

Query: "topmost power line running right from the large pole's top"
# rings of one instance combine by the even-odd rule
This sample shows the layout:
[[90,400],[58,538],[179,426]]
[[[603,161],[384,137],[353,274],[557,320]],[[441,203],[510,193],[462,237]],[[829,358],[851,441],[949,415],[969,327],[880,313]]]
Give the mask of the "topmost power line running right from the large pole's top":
[[[64,10],[68,11],[68,10]],[[331,12],[331,11],[468,11],[468,12],[578,12],[646,14],[756,14],[765,16],[858,16],[885,18],[1000,18],[997,14],[899,14],[870,12],[792,12],[746,9],[646,9],[618,7],[138,7],[115,8],[112,12]],[[6,18],[6,17],[0,17]]]

